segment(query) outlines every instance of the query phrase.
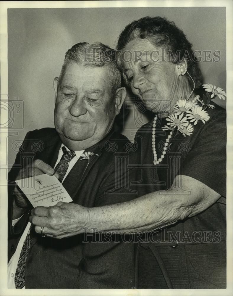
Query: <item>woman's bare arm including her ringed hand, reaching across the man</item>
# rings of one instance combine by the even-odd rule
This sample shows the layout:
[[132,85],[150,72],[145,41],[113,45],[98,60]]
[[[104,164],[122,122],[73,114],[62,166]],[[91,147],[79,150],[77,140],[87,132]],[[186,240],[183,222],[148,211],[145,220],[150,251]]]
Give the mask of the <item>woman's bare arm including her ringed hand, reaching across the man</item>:
[[[186,191],[186,192],[185,192]],[[194,216],[213,205],[220,194],[188,177],[177,176],[172,187],[164,191],[103,207],[85,208],[59,202],[53,207],[36,207],[30,221],[40,233],[63,238],[95,231],[152,231]]]

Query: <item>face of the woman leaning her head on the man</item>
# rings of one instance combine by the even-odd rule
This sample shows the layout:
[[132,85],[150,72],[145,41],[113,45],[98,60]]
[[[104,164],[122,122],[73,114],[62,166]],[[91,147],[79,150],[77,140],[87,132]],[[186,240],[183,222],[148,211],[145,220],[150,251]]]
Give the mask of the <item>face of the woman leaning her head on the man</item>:
[[153,112],[170,112],[180,81],[178,65],[168,61],[164,48],[156,48],[147,39],[134,39],[124,48],[122,61],[133,94]]

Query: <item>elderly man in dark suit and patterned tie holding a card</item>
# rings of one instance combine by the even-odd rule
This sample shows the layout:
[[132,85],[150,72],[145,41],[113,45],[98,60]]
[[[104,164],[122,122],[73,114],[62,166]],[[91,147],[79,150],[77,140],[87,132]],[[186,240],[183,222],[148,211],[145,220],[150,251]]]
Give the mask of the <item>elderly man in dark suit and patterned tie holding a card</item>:
[[[55,129],[27,133],[17,154],[9,173],[9,288],[134,286],[133,244],[117,236],[100,243],[95,237],[92,247],[93,238],[76,235],[79,229],[73,223],[77,204],[95,207],[135,197],[135,191],[124,183],[132,170],[114,161],[116,154],[127,157],[124,147],[130,144],[114,129],[126,96],[114,53],[101,43],[81,42],[68,50],[60,77],[54,79]],[[41,149],[36,150],[33,144],[38,143]],[[91,157],[81,161],[83,152]],[[33,153],[33,161],[24,161]],[[32,207],[12,184],[42,173],[59,178],[73,202],[36,207],[30,227]],[[48,226],[57,235],[50,235]],[[85,274],[83,285],[78,280],[80,272]]]

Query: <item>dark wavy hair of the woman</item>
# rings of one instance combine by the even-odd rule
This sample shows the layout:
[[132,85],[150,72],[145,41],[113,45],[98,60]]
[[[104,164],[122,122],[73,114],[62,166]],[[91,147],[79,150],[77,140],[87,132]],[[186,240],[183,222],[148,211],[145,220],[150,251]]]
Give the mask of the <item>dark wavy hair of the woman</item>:
[[[193,61],[192,44],[174,22],[162,17],[142,17],[140,20],[133,21],[120,34],[117,50],[122,51],[135,38],[147,39],[156,47],[165,47],[166,52],[171,53],[171,61],[174,63],[182,62],[183,58],[187,58],[188,72],[195,82],[195,88],[201,85],[201,71]],[[180,54],[176,55],[179,52]],[[185,75],[190,87],[193,88],[190,76],[187,73]]]

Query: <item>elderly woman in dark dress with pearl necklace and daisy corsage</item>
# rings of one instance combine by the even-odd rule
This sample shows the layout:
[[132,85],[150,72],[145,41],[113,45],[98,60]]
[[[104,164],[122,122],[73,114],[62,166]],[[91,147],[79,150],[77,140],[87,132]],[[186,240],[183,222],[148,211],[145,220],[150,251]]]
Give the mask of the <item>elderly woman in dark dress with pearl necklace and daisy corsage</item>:
[[[142,196],[103,207],[75,205],[81,214],[72,229],[47,222],[45,232],[59,238],[82,227],[136,232],[135,287],[226,288],[226,112],[210,104],[226,94],[208,84],[196,95],[201,73],[192,45],[166,19],[127,25],[117,49],[127,85],[155,113],[135,137]],[[70,205],[58,206],[62,221]]]

